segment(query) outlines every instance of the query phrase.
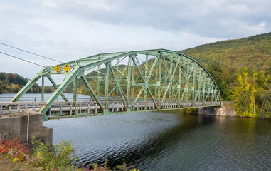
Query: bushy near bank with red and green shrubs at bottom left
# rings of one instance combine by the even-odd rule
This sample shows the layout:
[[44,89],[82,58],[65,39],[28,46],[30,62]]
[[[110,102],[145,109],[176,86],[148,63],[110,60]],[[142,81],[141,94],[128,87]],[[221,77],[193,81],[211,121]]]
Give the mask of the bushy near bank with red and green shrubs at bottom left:
[[93,164],[92,168],[78,165],[78,157],[71,141],[62,141],[59,144],[49,145],[41,140],[31,138],[30,142],[23,143],[19,138],[11,138],[9,135],[0,140],[0,168],[1,170],[68,170],[68,171],[111,171],[130,170],[138,171],[132,166],[118,165],[114,168]]

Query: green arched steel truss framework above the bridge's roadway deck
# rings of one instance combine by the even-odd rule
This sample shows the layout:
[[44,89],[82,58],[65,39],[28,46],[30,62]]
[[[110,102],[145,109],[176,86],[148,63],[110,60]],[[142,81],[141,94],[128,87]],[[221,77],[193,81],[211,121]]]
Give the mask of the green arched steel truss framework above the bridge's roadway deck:
[[[140,63],[139,56],[146,56],[146,61]],[[148,60],[148,56],[152,56],[153,60]],[[124,69],[112,67],[112,61],[117,60],[118,63],[120,63],[124,58],[128,58],[127,66],[125,66]],[[163,68],[161,67],[162,63]],[[169,67],[167,66],[168,64]],[[65,65],[70,67],[68,73],[63,71]],[[102,65],[105,65],[105,72],[101,72],[100,70]],[[55,72],[55,66],[46,66],[43,67],[11,101],[15,102],[21,98],[21,96],[26,93],[39,78],[47,77],[56,90],[41,108],[40,112],[43,114],[46,113],[59,95],[62,95],[63,99],[68,101],[67,98],[65,98],[65,95],[63,95],[63,91],[73,81],[74,88],[76,88],[76,81],[78,78],[82,78],[83,83],[85,83],[87,90],[90,92],[92,100],[96,101],[97,105],[100,106],[100,109],[104,111],[104,113],[107,113],[108,110],[108,95],[115,90],[119,92],[119,97],[127,111],[133,108],[143,91],[144,103],[146,104],[147,94],[149,94],[158,110],[164,100],[175,100],[179,106],[181,106],[181,102],[189,99],[192,101],[191,103],[198,102],[199,100],[202,102],[210,100],[212,104],[213,102],[220,102],[220,91],[211,74],[201,65],[201,63],[198,63],[196,59],[178,51],[154,49],[119,53],[101,53],[95,56],[70,61],[68,63],[61,63],[58,66],[61,68],[59,74],[65,74],[63,83],[61,83],[60,86],[57,86],[53,81],[53,78],[51,78],[51,75],[58,74]],[[144,70],[142,70],[142,68],[144,68]],[[104,103],[100,100],[100,86],[97,86],[95,93],[95,90],[93,90],[92,86],[87,81],[85,71],[89,71],[90,69],[97,73],[97,76],[92,76],[92,78],[97,78],[98,85],[100,85],[100,82],[102,81],[100,78],[105,79],[105,81],[103,81],[105,85],[105,92],[103,94],[105,95]],[[156,76],[154,76],[154,71],[156,71]],[[137,82],[137,80],[134,80],[133,74],[135,72],[138,73],[137,78],[141,81]],[[162,73],[166,73],[164,77],[161,77]],[[176,78],[176,76],[179,76],[179,78]],[[150,78],[152,78],[152,80]],[[109,79],[112,81],[109,81]],[[178,81],[176,81],[176,79]],[[150,81],[154,83],[149,83]],[[110,89],[109,92],[109,85],[112,83],[115,84],[115,87]],[[124,83],[126,83],[127,88],[124,87]],[[141,86],[137,96],[133,94],[134,89],[132,88],[134,88],[134,86]],[[155,86],[155,93],[149,86]],[[175,96],[175,99],[172,98],[173,96]],[[76,98],[74,98],[74,100],[76,100]]]

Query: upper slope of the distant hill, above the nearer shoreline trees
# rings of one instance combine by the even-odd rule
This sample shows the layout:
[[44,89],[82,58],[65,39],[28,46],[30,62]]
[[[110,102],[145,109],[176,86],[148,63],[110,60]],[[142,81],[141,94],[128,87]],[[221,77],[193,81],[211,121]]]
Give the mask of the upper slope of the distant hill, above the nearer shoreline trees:
[[271,32],[229,41],[208,43],[181,51],[196,58],[203,66],[218,63],[255,71],[270,70]]

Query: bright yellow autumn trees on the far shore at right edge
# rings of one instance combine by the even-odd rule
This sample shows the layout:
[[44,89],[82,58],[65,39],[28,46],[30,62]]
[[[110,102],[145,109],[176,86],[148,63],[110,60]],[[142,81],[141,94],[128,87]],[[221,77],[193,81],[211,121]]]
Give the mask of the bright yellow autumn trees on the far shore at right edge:
[[252,72],[243,68],[237,77],[238,84],[231,99],[240,116],[270,118],[270,73]]

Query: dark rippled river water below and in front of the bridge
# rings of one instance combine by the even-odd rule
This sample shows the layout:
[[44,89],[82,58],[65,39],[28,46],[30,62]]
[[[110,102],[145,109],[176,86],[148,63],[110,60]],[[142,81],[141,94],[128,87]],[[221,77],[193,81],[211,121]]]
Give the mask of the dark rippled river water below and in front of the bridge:
[[271,120],[180,110],[49,120],[53,144],[73,140],[80,162],[139,170],[271,170]]

